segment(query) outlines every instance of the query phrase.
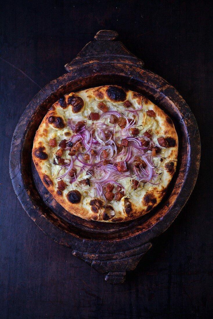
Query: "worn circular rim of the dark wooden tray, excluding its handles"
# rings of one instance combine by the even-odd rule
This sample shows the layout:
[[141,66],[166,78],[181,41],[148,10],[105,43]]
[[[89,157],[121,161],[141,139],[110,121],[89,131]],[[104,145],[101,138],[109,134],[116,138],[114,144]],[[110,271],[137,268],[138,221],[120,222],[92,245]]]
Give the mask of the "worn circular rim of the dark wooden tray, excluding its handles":
[[[111,63],[111,62],[106,62],[107,67],[108,67],[109,63]],[[107,73],[107,67],[106,67],[106,73]],[[35,95],[35,97],[31,100],[31,102],[28,104],[28,106],[25,109],[25,111],[23,112],[23,114],[21,115],[20,120],[16,126],[16,129],[15,129],[13,137],[12,137],[11,152],[10,152],[10,176],[12,179],[13,188],[15,190],[16,195],[18,196],[18,198],[20,200],[20,203],[22,204],[22,207],[28,213],[29,217],[31,219],[33,219],[35,224],[37,226],[39,226],[39,228],[41,228],[42,231],[45,234],[47,234],[50,238],[53,237],[52,233],[53,233],[53,228],[55,229],[55,227],[51,227],[51,226],[53,226],[52,222],[46,218],[46,216],[43,214],[43,212],[40,211],[40,209],[38,207],[35,206],[35,203],[32,203],[30,194],[28,194],[27,191],[25,190],[25,182],[24,182],[23,176],[22,176],[22,174],[19,174],[19,170],[20,170],[20,173],[22,173],[21,160],[22,160],[22,155],[23,155],[22,154],[23,145],[21,145],[21,147],[19,147],[19,145],[17,145],[17,136],[19,136],[24,141],[26,133],[28,131],[28,126],[29,126],[29,122],[30,122],[31,118],[33,117],[34,113],[39,110],[39,107],[46,100],[48,100],[48,98],[50,98],[50,92],[51,92],[51,97],[54,96],[55,101],[56,101],[56,100],[58,100],[59,96],[62,95],[61,92],[58,95],[59,89],[60,90],[65,89],[65,91],[66,91],[66,87],[67,87],[68,83],[74,81],[74,78],[80,80],[83,78],[87,79],[88,77],[93,76],[93,74],[91,75],[91,72],[92,72],[92,69],[94,69],[94,64],[92,65],[92,68],[90,68],[90,66],[88,66],[88,65],[87,66],[84,65],[82,68],[85,69],[83,77],[79,77],[79,75],[77,73],[75,74],[75,72],[73,71],[73,72],[62,75],[61,77],[59,77],[56,80],[51,81],[40,92],[38,92]],[[99,65],[97,65],[96,70],[98,70],[98,68],[99,68]],[[118,68],[119,68],[119,66],[118,66]],[[133,72],[134,68],[137,71],[137,65],[135,65],[135,66],[132,66],[132,70],[131,70],[131,72],[129,72],[129,74],[119,73],[118,75],[124,76],[124,78],[127,79],[127,83],[128,83],[128,81],[130,79],[134,79],[134,77],[132,76],[132,74],[134,73]],[[196,120],[194,118],[192,111],[190,110],[190,108],[188,107],[186,102],[183,100],[183,98],[180,96],[180,94],[175,90],[175,88],[173,86],[171,86],[163,78],[159,77],[158,75],[155,75],[154,73],[152,73],[146,69],[140,69],[140,72],[142,72],[144,78],[146,78],[146,77],[149,78],[150,75],[152,75],[152,81],[153,81],[154,85],[160,85],[161,87],[164,88],[164,90],[162,92],[162,90],[158,91],[156,89],[156,87],[154,87],[154,90],[159,93],[159,96],[158,96],[159,100],[162,98],[168,98],[168,99],[173,100],[173,101],[179,101],[178,102],[179,108],[180,108],[179,111],[182,108],[184,108],[185,111],[187,111],[185,114],[190,114],[190,123],[191,122],[193,123],[194,136],[192,136],[192,133],[193,133],[192,127],[188,126],[188,123],[187,123],[188,119],[187,119],[187,117],[185,117],[185,114],[182,114],[182,118],[180,121],[182,121],[182,124],[185,125],[185,128],[186,128],[187,132],[189,133],[188,144],[190,145],[190,147],[193,145],[196,145],[196,148],[198,150],[196,157],[193,155],[193,158],[192,157],[190,158],[190,155],[192,154],[192,148],[190,149],[190,154],[189,153],[187,154],[188,158],[189,158],[188,170],[185,174],[185,181],[183,182],[182,188],[180,189],[180,192],[179,192],[179,202],[176,202],[175,205],[173,203],[173,205],[170,207],[170,209],[168,209],[167,213],[162,217],[162,219],[159,219],[154,225],[151,225],[150,228],[147,228],[146,231],[143,231],[142,229],[138,229],[138,231],[136,233],[129,234],[129,236],[128,236],[128,237],[137,237],[139,235],[139,236],[143,237],[144,242],[148,242],[152,238],[161,234],[163,231],[165,231],[170,226],[172,221],[177,217],[178,213],[181,211],[181,209],[185,205],[188,197],[190,196],[190,194],[193,190],[193,187],[194,187],[196,179],[197,179],[198,170],[199,170],[200,136],[199,136],[199,130],[197,127],[197,123],[196,123]],[[109,74],[111,74],[111,76],[117,75],[116,70],[114,70],[114,73],[109,73]],[[146,83],[146,81],[145,81],[144,83],[148,87],[152,87],[150,82]],[[88,87],[90,87],[89,83],[88,83]],[[78,87],[75,91],[78,91],[80,89],[81,89],[81,87]],[[64,93],[65,93],[65,91],[64,91]],[[169,92],[168,94],[170,94],[170,96],[167,96],[166,92]],[[28,114],[30,115],[30,118],[29,118]],[[16,153],[16,159],[14,159],[14,153]],[[19,158],[20,161],[17,161],[17,158]],[[17,183],[20,185],[19,188],[17,188]],[[190,183],[189,187],[187,187],[188,183]],[[21,189],[22,193],[20,192],[19,189]],[[180,193],[182,195],[182,199],[180,198]],[[41,219],[40,219],[41,216],[43,219],[42,223],[41,223]],[[44,221],[44,219],[46,219],[46,220]],[[51,223],[51,225],[49,223]],[[58,228],[58,227],[56,226],[56,228]],[[59,229],[58,229],[58,231],[59,231]],[[66,233],[66,234],[64,234],[64,233]],[[54,234],[54,236],[55,236],[55,234]],[[56,237],[54,237],[54,238],[56,238]],[[84,238],[84,237],[80,238],[79,236],[69,234],[62,229],[60,229],[58,239],[57,240],[54,239],[54,240],[59,242],[60,244],[64,244],[64,245],[67,245],[70,247],[73,244],[73,241],[75,241],[77,238],[80,240],[95,241],[95,240],[91,240],[89,238]],[[125,238],[127,238],[127,237],[125,237]],[[119,240],[123,240],[123,238],[120,238]],[[99,240],[97,240],[97,241],[99,242]],[[104,241],[104,239],[103,239],[103,241]],[[110,240],[106,239],[106,241],[110,241]]]

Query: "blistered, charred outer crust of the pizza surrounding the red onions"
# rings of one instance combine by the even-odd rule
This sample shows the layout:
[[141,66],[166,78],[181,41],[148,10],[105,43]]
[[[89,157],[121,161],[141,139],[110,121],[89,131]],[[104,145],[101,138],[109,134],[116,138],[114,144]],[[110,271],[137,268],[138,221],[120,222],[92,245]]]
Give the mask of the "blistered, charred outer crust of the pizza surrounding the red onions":
[[[126,107],[128,105],[125,103],[126,101],[131,103],[130,108]],[[66,189],[59,190],[57,177],[66,172],[66,169],[62,169],[59,173],[61,167],[53,164],[55,152],[59,149],[59,142],[63,139],[68,141],[73,135],[73,131],[68,125],[68,119],[73,119],[78,115],[84,116],[86,125],[91,125],[95,121],[88,119],[90,113],[95,112],[99,115],[103,113],[98,108],[100,102],[103,102],[108,110],[118,112],[138,109],[142,105],[142,109],[138,111],[138,124],[136,126],[138,126],[139,134],[137,137],[143,136],[147,130],[152,131],[153,142],[160,147],[160,152],[157,154],[159,157],[153,159],[159,175],[150,181],[152,183],[140,182],[138,188],[134,189],[130,186],[132,180],[130,177],[117,181],[124,187],[124,196],[120,201],[116,201],[115,198],[111,202],[107,201],[105,206],[103,198],[96,197],[94,199],[88,195],[89,186],[82,189],[79,183],[72,182],[70,184],[68,174],[63,178],[67,184]],[[155,117],[149,116],[146,113],[148,110],[154,111]],[[127,116],[128,112],[125,115]],[[131,113],[129,115],[132,116]],[[107,122],[108,118],[99,121]],[[119,126],[117,127],[121,129]],[[159,145],[158,138],[161,137],[167,141],[166,148]],[[49,140],[53,138],[57,144],[55,147],[49,145]],[[63,158],[70,158],[68,152],[63,152]],[[175,173],[177,152],[177,133],[167,114],[140,93],[116,85],[104,85],[66,94],[53,104],[36,131],[32,158],[43,185],[68,212],[87,220],[122,222],[146,214],[162,200]],[[78,176],[77,181],[79,182],[85,177],[86,173],[83,171]],[[114,214],[111,215],[112,208]]]

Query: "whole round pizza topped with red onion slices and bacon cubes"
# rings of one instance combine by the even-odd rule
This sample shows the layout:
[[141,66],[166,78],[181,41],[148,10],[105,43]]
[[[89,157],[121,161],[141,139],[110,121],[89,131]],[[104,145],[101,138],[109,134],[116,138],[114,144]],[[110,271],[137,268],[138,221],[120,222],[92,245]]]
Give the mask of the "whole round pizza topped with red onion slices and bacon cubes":
[[62,96],[36,131],[32,158],[69,213],[122,222],[151,211],[177,165],[171,118],[141,93],[104,85]]

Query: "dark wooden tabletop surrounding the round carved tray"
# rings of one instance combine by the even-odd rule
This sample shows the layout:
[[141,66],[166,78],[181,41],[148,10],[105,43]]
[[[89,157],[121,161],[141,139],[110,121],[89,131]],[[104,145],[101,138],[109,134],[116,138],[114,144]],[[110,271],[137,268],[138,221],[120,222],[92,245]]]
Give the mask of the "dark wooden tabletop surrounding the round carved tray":
[[[4,1],[0,9],[0,317],[210,318],[212,315],[211,1]],[[20,115],[100,29],[175,86],[201,134],[201,167],[184,209],[126,282],[51,241],[22,209],[9,177]],[[195,145],[196,147],[196,145]]]

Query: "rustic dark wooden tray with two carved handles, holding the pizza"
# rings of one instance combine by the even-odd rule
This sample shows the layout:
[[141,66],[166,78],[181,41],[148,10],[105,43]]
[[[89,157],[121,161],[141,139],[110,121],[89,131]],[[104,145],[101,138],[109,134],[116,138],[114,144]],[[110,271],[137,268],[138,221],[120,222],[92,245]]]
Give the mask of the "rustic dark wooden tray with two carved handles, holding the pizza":
[[[72,249],[72,254],[119,284],[126,271],[135,269],[190,196],[200,164],[200,136],[194,115],[180,94],[158,75],[145,70],[117,32],[101,30],[95,40],[65,65],[67,74],[46,85],[29,103],[12,137],[10,175],[20,203],[35,224],[52,240]],[[35,131],[49,107],[63,94],[80,89],[117,84],[143,93],[175,123],[179,138],[177,171],[162,202],[147,215],[130,222],[100,223],[69,214],[43,186],[32,162]]]

